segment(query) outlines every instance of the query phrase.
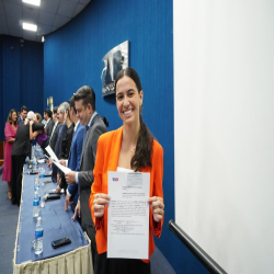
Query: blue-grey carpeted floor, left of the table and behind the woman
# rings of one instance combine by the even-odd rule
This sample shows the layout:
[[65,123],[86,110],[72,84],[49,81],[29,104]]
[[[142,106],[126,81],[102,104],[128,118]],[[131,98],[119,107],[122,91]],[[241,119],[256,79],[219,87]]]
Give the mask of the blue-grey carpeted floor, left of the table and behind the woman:
[[[15,247],[19,207],[16,205],[11,205],[7,191],[7,182],[2,182],[2,175],[0,175],[0,273],[12,274],[12,260]],[[161,251],[157,248],[150,262],[151,274],[175,273]]]

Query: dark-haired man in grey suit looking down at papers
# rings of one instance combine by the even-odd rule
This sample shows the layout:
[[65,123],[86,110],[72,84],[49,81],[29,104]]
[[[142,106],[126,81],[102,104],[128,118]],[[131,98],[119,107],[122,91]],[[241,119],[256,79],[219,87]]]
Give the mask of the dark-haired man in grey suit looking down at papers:
[[91,239],[92,261],[94,265],[96,254],[95,228],[91,219],[89,198],[93,183],[98,139],[102,134],[106,133],[106,127],[95,111],[95,93],[92,88],[83,85],[75,93],[73,98],[77,116],[81,125],[85,126],[85,137],[82,147],[80,172],[71,171],[65,174],[65,176],[68,184],[76,182],[79,185],[80,201],[77,204],[73,218],[76,218],[77,215],[81,216],[82,229],[87,231]]

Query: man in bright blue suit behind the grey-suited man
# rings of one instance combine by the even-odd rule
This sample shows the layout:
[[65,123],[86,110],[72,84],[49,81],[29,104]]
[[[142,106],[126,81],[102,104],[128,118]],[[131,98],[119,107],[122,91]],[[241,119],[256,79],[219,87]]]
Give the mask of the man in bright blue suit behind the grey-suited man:
[[[71,142],[71,147],[70,147],[68,161],[61,159],[59,162],[62,165],[67,165],[72,171],[79,171],[85,126],[80,124],[79,118],[76,115],[77,111],[76,111],[73,96],[69,100],[69,106],[70,106],[70,111],[69,111],[70,119],[76,125],[75,134],[73,134],[72,142]],[[60,189],[64,186],[65,183],[66,181],[64,178],[61,184],[59,185]],[[68,184],[65,210],[67,210],[68,205],[70,205],[72,212],[75,212],[75,208],[78,202],[78,196],[79,196],[78,184],[77,183]]]

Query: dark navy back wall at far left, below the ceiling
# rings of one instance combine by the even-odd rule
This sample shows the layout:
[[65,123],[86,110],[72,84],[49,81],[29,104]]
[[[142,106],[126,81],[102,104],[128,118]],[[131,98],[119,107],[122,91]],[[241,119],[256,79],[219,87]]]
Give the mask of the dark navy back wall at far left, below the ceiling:
[[11,109],[20,111],[22,105],[43,114],[44,45],[2,35],[0,39],[0,140],[4,140],[4,124]]

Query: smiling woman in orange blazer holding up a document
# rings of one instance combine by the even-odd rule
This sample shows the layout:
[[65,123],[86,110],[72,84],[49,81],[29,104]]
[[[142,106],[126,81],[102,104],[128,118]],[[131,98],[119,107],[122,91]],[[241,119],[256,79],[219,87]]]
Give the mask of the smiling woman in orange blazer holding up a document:
[[116,105],[123,126],[98,140],[89,205],[96,228],[95,274],[150,273],[149,260],[107,259],[107,171],[150,173],[149,258],[155,251],[153,236],[163,224],[163,150],[142,123],[142,89],[137,72],[126,68],[115,81]]

